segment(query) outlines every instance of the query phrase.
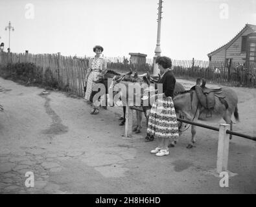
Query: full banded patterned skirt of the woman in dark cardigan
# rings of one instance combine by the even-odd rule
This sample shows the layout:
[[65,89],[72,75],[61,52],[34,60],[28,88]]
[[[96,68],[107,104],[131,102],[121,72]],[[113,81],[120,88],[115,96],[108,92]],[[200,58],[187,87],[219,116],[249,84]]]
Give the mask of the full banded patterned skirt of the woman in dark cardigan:
[[171,97],[158,98],[153,103],[148,118],[147,133],[158,138],[178,139],[178,123]]

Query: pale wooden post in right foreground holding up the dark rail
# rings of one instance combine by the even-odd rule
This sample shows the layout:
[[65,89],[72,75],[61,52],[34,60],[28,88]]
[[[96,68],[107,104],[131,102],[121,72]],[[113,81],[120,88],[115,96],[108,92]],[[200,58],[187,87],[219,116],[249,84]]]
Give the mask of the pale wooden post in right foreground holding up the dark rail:
[[227,129],[230,129],[229,124],[220,124],[220,129],[218,132],[217,173],[227,171],[229,152],[229,135],[226,133]]

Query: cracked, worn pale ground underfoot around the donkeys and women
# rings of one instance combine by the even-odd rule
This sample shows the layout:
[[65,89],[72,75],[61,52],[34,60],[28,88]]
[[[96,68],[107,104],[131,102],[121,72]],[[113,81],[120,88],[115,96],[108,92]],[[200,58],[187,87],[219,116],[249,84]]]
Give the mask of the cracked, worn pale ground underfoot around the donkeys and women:
[[[178,80],[187,88],[192,82]],[[197,144],[186,149],[186,131],[170,155],[156,157],[143,133],[123,138],[120,108],[89,114],[83,99],[24,87],[0,78],[1,193],[256,193],[256,145],[233,137],[229,187],[220,188],[216,168],[218,133],[198,128]],[[214,86],[214,85],[213,85]],[[256,89],[234,88],[240,122],[233,130],[256,135]],[[145,120],[145,118],[144,118]],[[218,126],[218,124],[215,124]],[[25,173],[34,173],[34,187]]]

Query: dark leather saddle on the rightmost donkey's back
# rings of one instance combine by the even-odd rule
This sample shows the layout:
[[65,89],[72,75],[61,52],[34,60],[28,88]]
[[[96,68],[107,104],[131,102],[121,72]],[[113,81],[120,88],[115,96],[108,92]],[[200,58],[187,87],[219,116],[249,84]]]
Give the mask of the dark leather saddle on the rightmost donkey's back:
[[[215,97],[217,97],[222,104],[226,106],[226,109],[228,107],[226,100],[226,96],[223,96],[222,94],[222,88],[219,89],[210,89],[205,87],[205,80],[202,78],[198,78],[196,80],[196,85],[194,85],[191,90],[196,91],[196,95],[198,97],[198,100],[200,104],[205,108],[205,109],[213,109],[215,107]],[[201,85],[200,85],[201,84]]]

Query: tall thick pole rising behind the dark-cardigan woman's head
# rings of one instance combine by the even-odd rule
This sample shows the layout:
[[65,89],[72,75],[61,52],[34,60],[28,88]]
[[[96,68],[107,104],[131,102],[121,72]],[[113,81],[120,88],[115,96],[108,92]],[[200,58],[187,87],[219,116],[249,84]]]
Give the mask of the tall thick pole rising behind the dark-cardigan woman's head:
[[157,40],[156,40],[156,49],[155,49],[155,56],[154,56],[154,72],[153,74],[154,75],[157,75],[158,74],[158,67],[157,67],[157,64],[156,64],[156,58],[158,56],[161,56],[161,48],[160,48],[160,38],[161,38],[161,19],[162,19],[162,3],[163,1],[162,0],[159,0],[159,3],[158,3],[158,18],[157,18]]

